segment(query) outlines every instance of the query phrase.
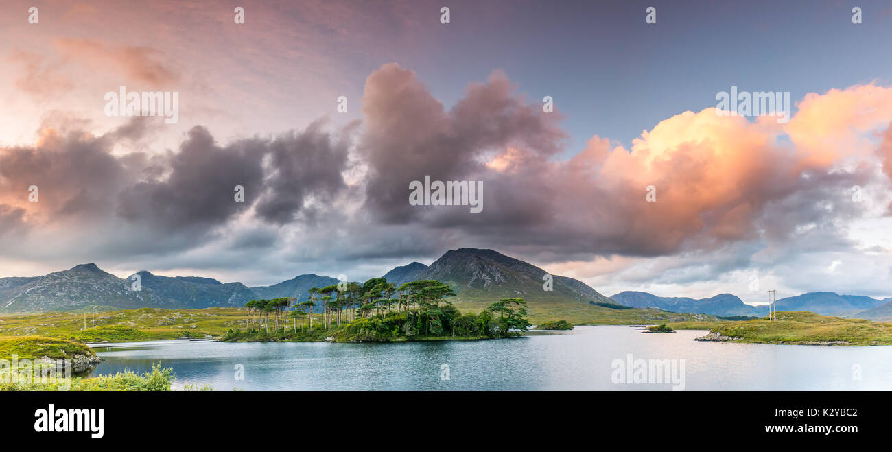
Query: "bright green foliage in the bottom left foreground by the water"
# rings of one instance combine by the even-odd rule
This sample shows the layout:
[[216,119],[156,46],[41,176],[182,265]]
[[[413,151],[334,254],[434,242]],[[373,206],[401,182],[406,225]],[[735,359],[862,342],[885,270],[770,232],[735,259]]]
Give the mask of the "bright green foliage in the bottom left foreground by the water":
[[[0,380],[0,390],[170,390],[170,382],[173,382],[173,378],[172,368],[161,368],[161,364],[156,364],[152,366],[152,372],[145,374],[136,374],[125,370],[114,375],[94,378],[71,377],[55,382],[4,382]],[[209,387],[205,386],[199,390],[208,389]]]

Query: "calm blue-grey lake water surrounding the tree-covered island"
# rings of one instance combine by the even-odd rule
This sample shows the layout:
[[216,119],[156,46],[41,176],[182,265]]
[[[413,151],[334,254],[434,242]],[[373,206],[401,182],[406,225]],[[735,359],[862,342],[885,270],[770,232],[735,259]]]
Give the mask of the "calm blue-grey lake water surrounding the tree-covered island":
[[[92,375],[143,373],[161,362],[173,367],[176,389],[192,383],[214,390],[892,390],[892,346],[694,341],[705,333],[577,326],[491,341],[130,342],[95,345],[105,361]],[[640,359],[668,360],[676,379],[634,382],[637,375],[623,369],[640,368]],[[620,374],[633,378],[615,382]]]

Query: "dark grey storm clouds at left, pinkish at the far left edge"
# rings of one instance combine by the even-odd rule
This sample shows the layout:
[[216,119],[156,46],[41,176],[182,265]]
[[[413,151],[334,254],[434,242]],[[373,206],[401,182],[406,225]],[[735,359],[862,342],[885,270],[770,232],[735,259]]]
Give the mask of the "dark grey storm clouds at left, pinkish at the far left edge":
[[[310,198],[325,201],[346,186],[341,174],[355,125],[332,136],[319,122],[304,132],[225,146],[196,126],[175,152],[112,152],[123,142],[144,140],[155,127],[149,119],[133,119],[103,136],[70,124],[45,127],[35,146],[0,149],[0,226],[34,229],[64,221],[71,237],[108,229],[115,232],[94,244],[97,252],[143,253],[197,246],[215,227],[255,207],[256,218],[281,225]],[[29,202],[31,185],[38,187],[38,202]],[[235,200],[237,185],[244,187],[244,202]],[[235,245],[272,242],[256,235]]]

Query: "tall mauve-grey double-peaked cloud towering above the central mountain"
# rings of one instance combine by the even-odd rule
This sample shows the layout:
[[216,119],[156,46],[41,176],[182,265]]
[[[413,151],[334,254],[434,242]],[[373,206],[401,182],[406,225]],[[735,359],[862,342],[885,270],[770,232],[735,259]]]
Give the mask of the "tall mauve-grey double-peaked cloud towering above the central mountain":
[[391,63],[372,73],[362,100],[365,135],[359,144],[369,166],[368,207],[386,223],[408,222],[421,215],[408,204],[411,181],[466,180],[484,169],[482,152],[507,146],[542,156],[559,152],[566,135],[557,114],[524,103],[515,89],[496,72],[486,84],[469,86],[465,97],[444,111],[415,72]]

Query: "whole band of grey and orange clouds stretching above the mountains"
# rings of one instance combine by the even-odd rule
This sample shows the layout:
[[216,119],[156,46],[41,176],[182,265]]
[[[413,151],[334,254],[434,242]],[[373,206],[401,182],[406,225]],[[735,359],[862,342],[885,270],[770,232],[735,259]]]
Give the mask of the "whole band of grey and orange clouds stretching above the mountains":
[[[598,284],[612,273],[747,287],[751,271],[801,283],[790,272],[803,256],[828,257],[822,271],[852,267],[840,257],[863,248],[851,226],[888,212],[890,93],[807,95],[786,125],[684,111],[630,146],[592,136],[562,160],[560,113],[542,112],[503,72],[447,109],[391,63],[367,78],[361,124],[339,130],[322,119],[221,144],[196,126],[175,150],[152,152],[151,119],[102,136],[77,121],[45,127],[32,146],[0,149],[0,223],[29,233],[0,241],[23,259],[39,259],[39,245],[47,259],[102,254],[149,268],[232,269],[262,255],[258,275],[351,275],[476,246],[566,263]],[[409,182],[425,176],[483,181],[483,212],[410,206]],[[31,184],[39,203],[27,202]],[[872,195],[855,202],[855,185]]]

